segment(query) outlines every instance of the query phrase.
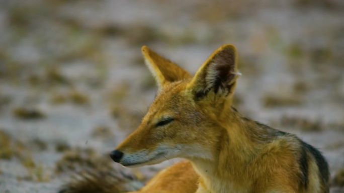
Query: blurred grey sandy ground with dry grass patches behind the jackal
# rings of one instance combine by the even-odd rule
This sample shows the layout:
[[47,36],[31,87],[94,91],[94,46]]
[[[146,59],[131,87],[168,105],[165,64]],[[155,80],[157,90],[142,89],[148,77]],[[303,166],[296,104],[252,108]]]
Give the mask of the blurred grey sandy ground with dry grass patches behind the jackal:
[[[56,192],[140,123],[141,46],[195,73],[223,44],[234,107],[318,147],[344,192],[344,1],[0,0],[0,192]],[[146,181],[160,168],[126,170]],[[101,163],[101,166],[100,164]]]

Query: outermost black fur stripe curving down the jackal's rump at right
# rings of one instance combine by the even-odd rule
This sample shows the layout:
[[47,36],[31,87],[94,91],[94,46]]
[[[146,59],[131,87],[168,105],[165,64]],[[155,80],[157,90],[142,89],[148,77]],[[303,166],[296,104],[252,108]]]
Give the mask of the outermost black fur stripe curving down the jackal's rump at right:
[[[311,146],[310,144],[302,140],[301,140],[301,143],[314,156],[315,162],[319,168],[319,177],[322,180],[322,184],[324,184],[323,188],[328,188],[329,171],[328,171],[328,163],[326,159],[321,155],[320,151],[317,150],[315,147]],[[325,189],[325,190],[326,192],[328,192],[328,189]]]

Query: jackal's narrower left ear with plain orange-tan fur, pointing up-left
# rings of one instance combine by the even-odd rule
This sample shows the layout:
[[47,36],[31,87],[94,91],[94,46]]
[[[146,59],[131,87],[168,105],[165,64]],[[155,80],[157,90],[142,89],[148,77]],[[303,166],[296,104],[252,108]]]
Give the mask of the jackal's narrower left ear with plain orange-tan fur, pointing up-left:
[[186,70],[159,56],[147,46],[142,47],[142,54],[148,69],[155,78],[159,90],[168,83],[192,77]]

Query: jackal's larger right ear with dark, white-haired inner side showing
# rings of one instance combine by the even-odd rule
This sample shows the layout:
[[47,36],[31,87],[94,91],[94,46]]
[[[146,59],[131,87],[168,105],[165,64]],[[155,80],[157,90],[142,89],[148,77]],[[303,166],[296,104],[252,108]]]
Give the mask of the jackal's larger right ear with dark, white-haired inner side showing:
[[237,72],[237,53],[233,45],[218,48],[197,71],[190,83],[195,98],[206,96],[210,91],[215,94],[232,95]]

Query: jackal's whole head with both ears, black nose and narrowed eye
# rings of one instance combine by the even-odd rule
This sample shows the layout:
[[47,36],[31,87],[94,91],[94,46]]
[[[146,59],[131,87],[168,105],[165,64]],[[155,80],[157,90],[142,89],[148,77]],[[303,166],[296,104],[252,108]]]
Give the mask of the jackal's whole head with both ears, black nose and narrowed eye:
[[224,119],[240,75],[232,45],[218,48],[192,77],[186,70],[142,47],[158,93],[140,126],[110,153],[124,166],[174,157],[212,159],[224,136]]

